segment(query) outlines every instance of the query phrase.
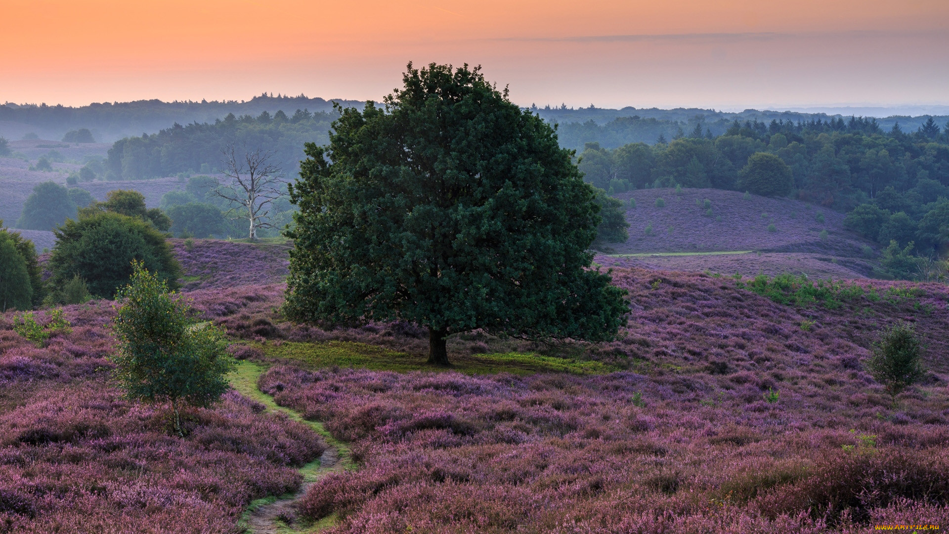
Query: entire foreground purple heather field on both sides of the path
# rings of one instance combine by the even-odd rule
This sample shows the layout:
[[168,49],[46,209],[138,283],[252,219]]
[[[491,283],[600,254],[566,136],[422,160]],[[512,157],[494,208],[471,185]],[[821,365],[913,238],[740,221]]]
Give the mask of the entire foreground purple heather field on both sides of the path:
[[[751,276],[762,258],[843,259],[860,241],[841,239],[828,251],[732,257],[747,261],[732,267]],[[294,526],[856,534],[949,524],[943,284],[854,276],[846,283],[859,291],[839,307],[783,305],[739,287],[731,267],[726,277],[672,272],[723,257],[646,269],[661,257],[599,256],[629,292],[617,340],[449,340],[459,364],[540,353],[597,363],[599,373],[390,372],[281,356],[292,344],[347,346],[339,341],[419,364],[427,351],[426,333],[406,323],[289,322],[280,312],[288,245],[171,244],[198,317],[225,329],[238,357],[267,368],[260,390],[352,451],[354,469],[308,486]],[[0,532],[236,534],[253,499],[300,487],[297,468],[327,447],[233,391],[213,409],[188,410],[187,435],[177,437],[167,406],[125,400],[108,379],[110,301],[66,306],[72,332],[41,347],[12,331],[14,315],[0,315]],[[865,362],[881,329],[900,320],[922,334],[927,371],[894,404]]]

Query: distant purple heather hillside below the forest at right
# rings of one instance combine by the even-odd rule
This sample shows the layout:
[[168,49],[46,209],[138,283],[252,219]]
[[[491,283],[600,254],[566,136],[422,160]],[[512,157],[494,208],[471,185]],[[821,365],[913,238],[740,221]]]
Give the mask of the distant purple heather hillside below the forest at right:
[[[873,272],[873,260],[866,257],[865,246],[874,251],[871,256],[878,254],[876,243],[844,228],[843,214],[800,200],[746,198],[736,191],[689,188],[678,195],[675,189],[666,188],[640,189],[616,197],[636,204],[626,208],[629,239],[611,243],[608,251],[621,257],[637,255],[621,262],[627,266],[683,272],[707,269],[729,275],[804,273],[857,278]],[[657,206],[657,199],[662,199],[664,206]],[[648,256],[745,251],[763,254]]]

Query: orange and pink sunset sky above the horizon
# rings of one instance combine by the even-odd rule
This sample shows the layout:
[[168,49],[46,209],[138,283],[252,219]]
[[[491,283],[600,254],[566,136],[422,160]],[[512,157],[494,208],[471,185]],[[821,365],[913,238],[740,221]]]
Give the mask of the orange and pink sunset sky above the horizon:
[[4,0],[0,102],[380,100],[408,61],[521,105],[949,105],[949,0]]

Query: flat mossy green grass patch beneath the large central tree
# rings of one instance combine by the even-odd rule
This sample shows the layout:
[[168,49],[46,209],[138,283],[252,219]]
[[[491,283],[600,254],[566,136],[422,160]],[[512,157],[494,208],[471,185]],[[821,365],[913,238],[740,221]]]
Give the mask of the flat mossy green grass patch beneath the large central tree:
[[[270,357],[304,362],[314,367],[352,367],[372,371],[445,371],[425,363],[422,356],[399,353],[389,349],[352,341],[326,343],[285,342],[280,346],[268,345],[264,352]],[[574,374],[601,374],[617,371],[601,362],[543,356],[532,353],[493,353],[449,356],[452,371],[467,374],[511,372],[570,372]]]

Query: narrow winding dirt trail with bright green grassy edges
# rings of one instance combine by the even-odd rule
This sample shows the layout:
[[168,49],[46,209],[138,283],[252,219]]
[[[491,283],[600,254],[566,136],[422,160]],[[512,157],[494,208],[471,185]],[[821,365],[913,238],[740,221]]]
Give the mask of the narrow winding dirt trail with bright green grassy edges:
[[[321,520],[316,524],[310,524],[304,528],[297,528],[295,524],[288,524],[285,520],[295,518],[296,503],[307,494],[307,489],[312,486],[327,473],[342,471],[353,468],[352,460],[349,455],[349,448],[334,439],[323,425],[313,421],[307,421],[294,410],[278,406],[273,397],[257,389],[257,378],[267,371],[264,366],[251,361],[239,362],[237,371],[231,377],[233,389],[241,394],[263,404],[268,410],[279,411],[286,414],[293,421],[299,421],[313,429],[316,433],[323,436],[326,441],[326,451],[318,460],[310,462],[304,467],[300,467],[300,474],[303,475],[303,484],[296,493],[281,495],[279,497],[265,497],[251,503],[248,510],[241,517],[240,523],[247,526],[250,534],[309,534],[318,532],[334,523],[333,517]],[[295,523],[295,522],[294,522]]]

